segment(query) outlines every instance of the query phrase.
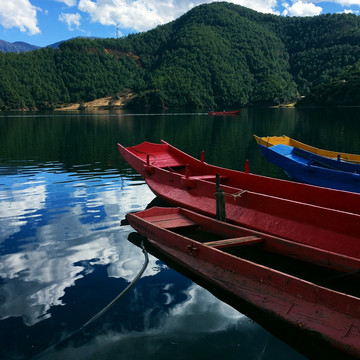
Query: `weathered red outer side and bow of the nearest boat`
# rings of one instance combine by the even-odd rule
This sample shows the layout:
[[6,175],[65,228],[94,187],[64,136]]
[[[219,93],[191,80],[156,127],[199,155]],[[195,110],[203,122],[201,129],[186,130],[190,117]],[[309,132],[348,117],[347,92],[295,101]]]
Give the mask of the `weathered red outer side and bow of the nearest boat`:
[[[178,234],[164,222],[159,223],[158,219],[164,218],[166,211],[150,209],[128,214],[128,219],[153,246],[197,276],[292,326],[320,335],[331,346],[347,354],[360,356],[359,298],[228,254],[211,247],[214,242],[202,243]],[[184,209],[170,211],[172,214],[176,211],[189,213]],[[163,215],[159,215],[161,212]],[[230,226],[212,219],[205,221],[206,228],[212,229],[209,232]],[[233,231],[236,236],[236,229]],[[242,234],[243,230],[238,231]]]

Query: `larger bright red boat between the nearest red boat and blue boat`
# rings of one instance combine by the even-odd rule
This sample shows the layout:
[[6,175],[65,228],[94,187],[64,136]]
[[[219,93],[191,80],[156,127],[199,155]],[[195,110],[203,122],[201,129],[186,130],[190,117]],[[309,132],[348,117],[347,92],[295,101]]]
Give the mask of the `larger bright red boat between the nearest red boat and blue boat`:
[[215,217],[220,174],[228,222],[360,259],[360,194],[212,166],[165,142],[118,147],[170,204]]

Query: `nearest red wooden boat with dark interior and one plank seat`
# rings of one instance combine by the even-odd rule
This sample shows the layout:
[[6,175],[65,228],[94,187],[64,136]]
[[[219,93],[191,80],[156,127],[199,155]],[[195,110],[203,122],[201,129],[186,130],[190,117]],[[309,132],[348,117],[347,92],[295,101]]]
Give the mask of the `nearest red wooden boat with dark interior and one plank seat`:
[[197,276],[360,357],[359,259],[181,208],[151,208],[127,218],[153,246]]

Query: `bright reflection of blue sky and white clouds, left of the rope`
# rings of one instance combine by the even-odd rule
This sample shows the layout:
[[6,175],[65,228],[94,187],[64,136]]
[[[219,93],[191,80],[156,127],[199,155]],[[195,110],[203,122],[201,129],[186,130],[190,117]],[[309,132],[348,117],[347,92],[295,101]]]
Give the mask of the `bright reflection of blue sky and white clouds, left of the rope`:
[[[66,288],[86,275],[81,262],[108,265],[109,276],[127,281],[142,266],[141,250],[127,241],[131,228],[120,228],[119,223],[127,212],[134,210],[131,204],[137,204],[135,210],[141,210],[153,199],[147,186],[142,184],[140,189],[123,184],[122,188],[94,189],[94,185],[84,184],[74,188],[66,181],[68,175],[56,175],[41,173],[41,185],[23,183],[18,189],[14,181],[0,192],[0,225],[4,225],[0,239],[5,241],[17,234],[18,238],[12,241],[21,243],[16,253],[5,251],[0,256],[3,279],[0,319],[21,316],[27,325],[34,325],[48,317],[51,306],[64,305],[62,297]],[[114,183],[117,181],[119,178],[114,179]],[[83,221],[85,216],[98,215],[91,212],[89,215],[94,204],[99,211],[101,208],[100,222],[91,218]],[[19,235],[32,214],[39,210],[42,210],[41,224]],[[158,271],[156,260],[151,261],[148,276]]]

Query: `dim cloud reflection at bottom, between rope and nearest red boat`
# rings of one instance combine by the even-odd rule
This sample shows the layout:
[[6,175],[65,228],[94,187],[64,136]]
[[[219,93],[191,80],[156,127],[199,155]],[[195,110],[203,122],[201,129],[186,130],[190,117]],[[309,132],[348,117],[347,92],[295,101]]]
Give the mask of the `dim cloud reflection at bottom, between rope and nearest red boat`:
[[[163,290],[170,290],[167,284]],[[207,290],[192,284],[184,301],[159,314],[155,307],[166,304],[143,299],[143,331],[110,330],[82,346],[71,346],[46,354],[46,360],[142,360],[142,359],[305,359],[245,315],[216,299]],[[148,308],[152,304],[153,308]],[[153,325],[151,325],[153,324]],[[155,324],[155,325],[154,325]],[[106,328],[106,326],[104,326]]]

